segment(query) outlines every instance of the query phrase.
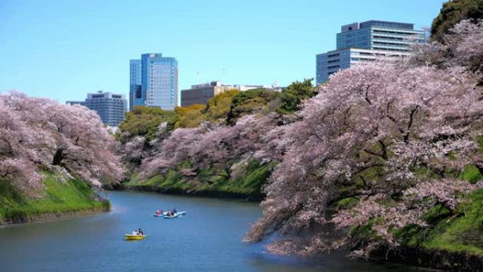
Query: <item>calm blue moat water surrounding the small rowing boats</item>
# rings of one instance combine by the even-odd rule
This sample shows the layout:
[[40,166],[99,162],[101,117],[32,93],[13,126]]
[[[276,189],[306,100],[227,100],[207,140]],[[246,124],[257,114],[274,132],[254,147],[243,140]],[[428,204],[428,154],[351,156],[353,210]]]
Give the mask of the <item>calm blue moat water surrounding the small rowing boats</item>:
[[[241,242],[261,215],[257,203],[114,191],[112,211],[0,228],[1,271],[414,271],[351,261],[347,252],[316,259],[273,256]],[[156,209],[186,216],[155,218]],[[141,227],[148,237],[124,241]]]

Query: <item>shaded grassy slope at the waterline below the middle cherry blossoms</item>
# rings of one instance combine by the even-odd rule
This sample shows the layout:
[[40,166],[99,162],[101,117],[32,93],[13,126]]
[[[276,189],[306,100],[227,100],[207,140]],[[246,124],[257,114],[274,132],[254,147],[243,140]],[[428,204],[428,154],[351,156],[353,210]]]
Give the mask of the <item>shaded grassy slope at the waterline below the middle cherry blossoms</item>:
[[227,170],[210,169],[201,170],[196,176],[187,177],[181,174],[186,166],[180,165],[177,170],[169,170],[166,175],[155,175],[150,179],[141,181],[137,175],[123,184],[126,189],[139,189],[158,191],[172,194],[193,194],[205,196],[243,197],[253,200],[263,198],[261,187],[275,167],[275,163],[260,165],[252,160],[246,166],[244,175],[230,177]]

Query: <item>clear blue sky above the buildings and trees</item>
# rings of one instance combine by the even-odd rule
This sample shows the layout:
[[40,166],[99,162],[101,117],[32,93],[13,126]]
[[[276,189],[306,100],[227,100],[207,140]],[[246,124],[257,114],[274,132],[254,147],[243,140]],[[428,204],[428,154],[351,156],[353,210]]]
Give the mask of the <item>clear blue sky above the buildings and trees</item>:
[[[340,25],[431,25],[444,0],[0,0],[0,92],[60,102],[95,90],[129,97],[129,59],[176,57],[179,90],[222,80],[266,84],[315,77]],[[225,73],[223,73],[225,69]]]

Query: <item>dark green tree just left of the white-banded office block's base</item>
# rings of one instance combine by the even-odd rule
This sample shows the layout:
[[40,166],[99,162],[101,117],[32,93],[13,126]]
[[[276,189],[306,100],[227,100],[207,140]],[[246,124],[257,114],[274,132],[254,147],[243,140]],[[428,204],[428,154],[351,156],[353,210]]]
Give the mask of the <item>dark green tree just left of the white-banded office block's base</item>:
[[282,91],[280,97],[280,107],[278,112],[281,114],[290,114],[300,110],[302,100],[316,95],[316,89],[312,85],[314,78],[304,79],[304,81],[295,81]]

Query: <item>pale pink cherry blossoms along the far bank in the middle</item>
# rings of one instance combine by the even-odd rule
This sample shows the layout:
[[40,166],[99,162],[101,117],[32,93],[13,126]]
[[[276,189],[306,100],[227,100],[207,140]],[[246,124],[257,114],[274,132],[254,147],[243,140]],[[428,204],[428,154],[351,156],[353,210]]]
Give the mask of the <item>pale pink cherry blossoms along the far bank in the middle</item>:
[[189,161],[192,168],[184,170],[193,175],[206,167],[224,170],[228,178],[234,160],[253,157],[263,146],[262,136],[276,124],[278,114],[247,115],[234,126],[213,125],[208,122],[193,129],[176,129],[160,141],[157,150],[141,165],[141,177],[164,174]]

